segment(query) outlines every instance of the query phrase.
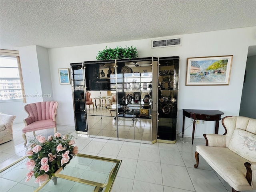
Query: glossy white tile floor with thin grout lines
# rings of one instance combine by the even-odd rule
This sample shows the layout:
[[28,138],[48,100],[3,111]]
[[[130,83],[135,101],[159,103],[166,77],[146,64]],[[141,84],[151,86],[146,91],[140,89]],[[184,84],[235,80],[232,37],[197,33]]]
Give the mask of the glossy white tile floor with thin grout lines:
[[[0,168],[25,156],[22,138],[24,124],[13,125],[14,140],[0,145]],[[58,132],[71,132],[77,138],[79,152],[122,160],[112,192],[231,192],[231,187],[218,177],[212,168],[200,158],[194,168],[196,145],[204,145],[204,139],[191,138],[175,144],[143,144],[126,141],[88,138],[76,134],[74,126],[57,126]],[[36,132],[43,136],[54,134],[53,129]],[[32,133],[28,137],[32,137]],[[25,189],[24,189],[25,190]],[[23,191],[16,182],[1,182],[0,191]],[[26,191],[26,190],[25,190]]]

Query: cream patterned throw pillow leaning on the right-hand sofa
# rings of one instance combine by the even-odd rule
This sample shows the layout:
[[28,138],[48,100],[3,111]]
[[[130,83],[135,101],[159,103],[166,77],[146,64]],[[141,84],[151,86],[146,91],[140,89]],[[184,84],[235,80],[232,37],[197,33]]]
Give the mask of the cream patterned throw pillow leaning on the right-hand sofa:
[[256,161],[256,135],[236,128],[228,148],[249,161]]

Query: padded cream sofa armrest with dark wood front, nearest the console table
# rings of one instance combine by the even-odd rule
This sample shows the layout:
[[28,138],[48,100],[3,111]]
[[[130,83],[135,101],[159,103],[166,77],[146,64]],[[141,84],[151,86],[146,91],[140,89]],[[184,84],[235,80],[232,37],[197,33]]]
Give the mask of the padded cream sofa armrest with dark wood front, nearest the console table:
[[209,147],[226,147],[226,136],[218,134],[204,134],[206,146]]

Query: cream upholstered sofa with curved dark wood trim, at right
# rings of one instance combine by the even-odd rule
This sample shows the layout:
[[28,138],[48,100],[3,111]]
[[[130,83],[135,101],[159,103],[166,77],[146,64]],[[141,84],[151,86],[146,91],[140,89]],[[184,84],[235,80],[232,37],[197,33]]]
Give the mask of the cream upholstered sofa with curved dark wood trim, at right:
[[196,146],[199,154],[232,187],[232,192],[256,190],[256,119],[226,116],[224,135],[204,134],[206,146]]

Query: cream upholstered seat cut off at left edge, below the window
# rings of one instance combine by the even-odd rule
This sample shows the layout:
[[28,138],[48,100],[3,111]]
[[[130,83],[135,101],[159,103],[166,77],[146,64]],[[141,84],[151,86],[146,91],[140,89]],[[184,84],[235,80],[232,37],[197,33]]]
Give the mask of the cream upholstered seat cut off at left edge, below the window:
[[15,115],[7,115],[4,113],[0,113],[0,144],[8,142],[13,139],[12,123],[15,118]]

